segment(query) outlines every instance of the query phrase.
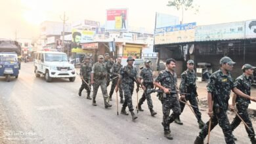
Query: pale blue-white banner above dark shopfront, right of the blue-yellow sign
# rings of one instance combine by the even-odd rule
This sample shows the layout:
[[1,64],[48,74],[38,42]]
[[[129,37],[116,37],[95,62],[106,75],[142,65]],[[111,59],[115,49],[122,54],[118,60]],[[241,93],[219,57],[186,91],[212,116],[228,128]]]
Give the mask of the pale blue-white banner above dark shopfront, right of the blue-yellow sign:
[[245,22],[232,22],[196,27],[196,41],[244,39]]

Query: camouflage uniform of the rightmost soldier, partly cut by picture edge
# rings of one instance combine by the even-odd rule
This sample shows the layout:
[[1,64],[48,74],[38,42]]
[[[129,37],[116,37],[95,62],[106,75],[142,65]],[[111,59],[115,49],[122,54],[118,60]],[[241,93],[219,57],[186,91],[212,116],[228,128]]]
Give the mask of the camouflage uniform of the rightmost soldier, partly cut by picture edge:
[[[246,77],[245,74],[240,75],[240,77],[238,77],[235,81],[235,83],[237,84],[236,88],[238,88],[239,90],[244,92],[244,94],[247,94],[250,96],[251,82],[252,82],[251,77]],[[249,99],[242,98],[240,96],[236,97],[236,108],[238,109],[238,115],[240,115],[240,117],[244,120],[244,122],[251,129],[251,131],[250,131],[250,130],[248,130],[248,128],[245,127],[248,137],[250,139],[254,139],[255,132],[253,130],[253,125],[251,124],[251,120],[250,120],[248,112],[247,112],[249,103],[251,103],[251,101]],[[238,116],[236,116],[231,124],[232,130],[236,129],[236,127],[240,124],[240,122],[241,122],[240,118]]]

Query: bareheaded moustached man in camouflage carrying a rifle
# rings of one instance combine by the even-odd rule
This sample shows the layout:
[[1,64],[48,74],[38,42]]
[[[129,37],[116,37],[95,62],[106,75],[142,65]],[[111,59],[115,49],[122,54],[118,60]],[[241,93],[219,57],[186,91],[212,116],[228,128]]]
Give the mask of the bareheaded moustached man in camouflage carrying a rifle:
[[[177,91],[177,74],[175,73],[175,60],[170,58],[166,61],[167,69],[161,71],[154,81],[154,85],[163,90],[163,94],[158,94],[163,109],[163,131],[167,139],[173,139],[171,136],[170,124],[175,118],[181,115],[181,108],[177,94],[171,94],[169,91]],[[170,111],[173,111],[171,115]]]

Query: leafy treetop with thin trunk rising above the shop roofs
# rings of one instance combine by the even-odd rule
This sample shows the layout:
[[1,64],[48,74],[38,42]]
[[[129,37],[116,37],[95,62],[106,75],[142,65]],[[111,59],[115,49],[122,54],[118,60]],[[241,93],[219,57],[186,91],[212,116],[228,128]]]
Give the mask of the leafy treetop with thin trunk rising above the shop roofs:
[[184,10],[195,10],[195,13],[198,12],[199,6],[198,5],[193,5],[194,0],[171,0],[168,1],[167,6],[168,7],[175,7],[177,10],[181,9],[182,12],[182,20],[181,24],[183,24],[183,16],[184,16]]

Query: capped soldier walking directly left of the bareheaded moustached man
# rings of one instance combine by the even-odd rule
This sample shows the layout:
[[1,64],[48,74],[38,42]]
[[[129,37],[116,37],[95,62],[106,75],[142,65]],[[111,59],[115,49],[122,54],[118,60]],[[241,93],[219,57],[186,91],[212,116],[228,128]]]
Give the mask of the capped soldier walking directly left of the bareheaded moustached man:
[[[143,79],[142,84],[146,87],[147,89],[151,89],[154,87],[153,84],[153,71],[150,68],[150,61],[146,60],[144,62],[145,67],[140,71],[140,80]],[[144,91],[142,98],[140,98],[139,100],[139,104],[138,104],[138,109],[139,111],[144,111],[141,108],[141,105],[143,104],[143,102],[147,100],[148,101],[148,109],[150,109],[150,113],[152,116],[156,115],[157,113],[153,110],[153,103],[152,103],[152,99],[150,94],[146,94],[146,91]]]

